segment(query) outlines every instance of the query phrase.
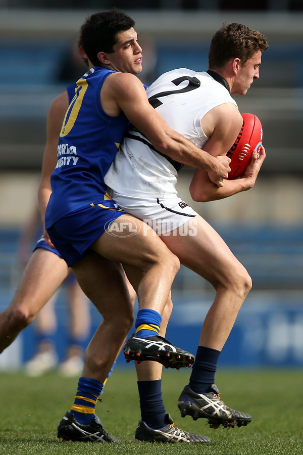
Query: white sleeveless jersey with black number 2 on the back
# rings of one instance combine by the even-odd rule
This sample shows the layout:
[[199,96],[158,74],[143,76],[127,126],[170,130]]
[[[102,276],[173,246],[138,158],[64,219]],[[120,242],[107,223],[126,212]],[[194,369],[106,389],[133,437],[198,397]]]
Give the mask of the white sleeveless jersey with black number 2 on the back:
[[[203,148],[208,137],[201,118],[214,107],[236,102],[228,89],[207,72],[186,68],[169,71],[147,89],[150,104],[177,132]],[[182,166],[159,153],[146,137],[131,128],[120,144],[105,177],[111,194],[170,198],[177,194],[177,172]],[[119,204],[119,202],[117,201]]]

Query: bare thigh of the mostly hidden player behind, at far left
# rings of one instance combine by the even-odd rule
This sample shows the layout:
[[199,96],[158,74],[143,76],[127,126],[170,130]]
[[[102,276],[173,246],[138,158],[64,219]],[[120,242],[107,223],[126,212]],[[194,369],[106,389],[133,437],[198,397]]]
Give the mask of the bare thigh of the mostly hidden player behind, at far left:
[[11,306],[38,312],[69,276],[70,269],[57,254],[36,249],[25,269]]

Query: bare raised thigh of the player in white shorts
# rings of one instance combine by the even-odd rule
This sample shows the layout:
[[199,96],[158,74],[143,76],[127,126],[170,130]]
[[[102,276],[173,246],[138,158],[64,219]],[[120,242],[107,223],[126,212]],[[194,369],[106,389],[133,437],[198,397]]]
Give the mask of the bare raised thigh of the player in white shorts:
[[181,264],[210,283],[227,283],[237,275],[247,274],[222,237],[199,215],[161,239]]

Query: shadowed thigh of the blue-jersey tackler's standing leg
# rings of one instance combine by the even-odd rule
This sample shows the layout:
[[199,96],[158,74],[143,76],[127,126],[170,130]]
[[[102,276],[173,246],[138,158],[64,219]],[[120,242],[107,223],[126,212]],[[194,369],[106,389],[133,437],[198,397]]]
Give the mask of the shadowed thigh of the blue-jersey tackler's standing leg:
[[72,268],[83,292],[104,318],[132,317],[133,305],[121,264],[92,252]]

